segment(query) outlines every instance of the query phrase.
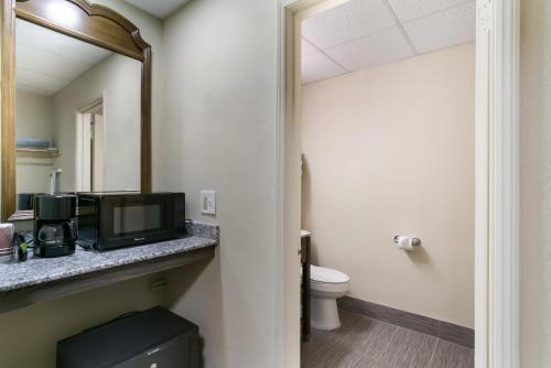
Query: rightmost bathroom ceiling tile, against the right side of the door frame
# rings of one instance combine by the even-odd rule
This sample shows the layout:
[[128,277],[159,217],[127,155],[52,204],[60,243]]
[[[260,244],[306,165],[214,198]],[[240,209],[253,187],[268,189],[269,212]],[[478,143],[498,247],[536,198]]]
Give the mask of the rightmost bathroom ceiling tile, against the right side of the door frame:
[[419,53],[476,40],[475,1],[403,24]]

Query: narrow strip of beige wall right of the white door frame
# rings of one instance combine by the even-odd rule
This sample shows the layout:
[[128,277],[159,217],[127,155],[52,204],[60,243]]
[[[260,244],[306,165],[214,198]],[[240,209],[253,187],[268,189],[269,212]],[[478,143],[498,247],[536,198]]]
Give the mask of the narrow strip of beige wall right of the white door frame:
[[551,366],[551,6],[522,0],[520,367]]

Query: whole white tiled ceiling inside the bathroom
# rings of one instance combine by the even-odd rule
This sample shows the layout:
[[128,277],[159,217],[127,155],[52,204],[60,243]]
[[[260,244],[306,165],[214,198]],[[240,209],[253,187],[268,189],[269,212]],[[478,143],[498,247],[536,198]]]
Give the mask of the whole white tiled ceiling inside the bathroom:
[[302,23],[307,84],[475,41],[475,0],[349,0]]

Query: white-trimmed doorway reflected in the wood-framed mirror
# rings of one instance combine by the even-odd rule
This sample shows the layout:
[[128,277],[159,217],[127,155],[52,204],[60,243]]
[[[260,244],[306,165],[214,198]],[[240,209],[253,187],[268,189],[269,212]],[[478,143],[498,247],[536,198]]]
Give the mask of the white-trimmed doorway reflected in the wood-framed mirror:
[[104,101],[98,99],[77,113],[76,187],[78,192],[104,191]]

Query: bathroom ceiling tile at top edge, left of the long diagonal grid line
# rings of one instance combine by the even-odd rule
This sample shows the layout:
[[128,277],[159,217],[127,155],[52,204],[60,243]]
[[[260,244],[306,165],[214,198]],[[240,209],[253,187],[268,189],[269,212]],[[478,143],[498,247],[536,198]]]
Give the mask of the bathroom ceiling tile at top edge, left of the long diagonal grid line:
[[305,19],[302,34],[327,48],[396,25],[381,0],[350,0]]

